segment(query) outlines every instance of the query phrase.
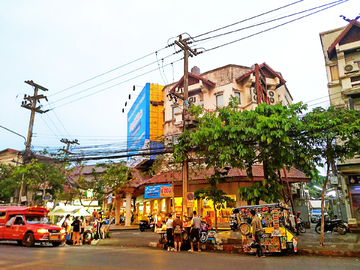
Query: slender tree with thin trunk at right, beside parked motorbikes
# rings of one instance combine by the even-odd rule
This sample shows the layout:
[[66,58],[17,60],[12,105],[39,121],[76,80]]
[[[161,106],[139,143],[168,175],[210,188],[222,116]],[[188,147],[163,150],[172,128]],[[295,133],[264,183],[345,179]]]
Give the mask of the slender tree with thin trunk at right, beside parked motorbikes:
[[321,194],[321,235],[324,245],[324,197],[330,167],[336,160],[344,162],[360,152],[360,112],[346,108],[315,108],[302,118],[304,132],[299,134],[302,153],[318,166],[326,164],[326,178]]

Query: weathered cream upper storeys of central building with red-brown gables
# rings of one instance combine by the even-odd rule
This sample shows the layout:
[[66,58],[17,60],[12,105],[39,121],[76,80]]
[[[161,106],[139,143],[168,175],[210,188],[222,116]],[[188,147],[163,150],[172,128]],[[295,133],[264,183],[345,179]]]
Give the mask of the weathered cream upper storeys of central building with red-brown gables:
[[[280,73],[274,71],[269,65],[259,65],[260,76],[266,84],[266,94],[270,104],[282,102],[291,104],[292,97],[288,91],[285,80]],[[255,67],[239,65],[227,65],[200,74],[200,70],[194,67],[189,73],[189,103],[201,105],[206,110],[215,110],[217,107],[228,105],[230,97],[235,97],[242,110],[253,110],[257,107],[257,93],[255,89]],[[183,92],[183,78],[177,83],[166,85],[164,95],[164,135],[173,137],[182,132],[181,99],[171,98],[169,93]]]

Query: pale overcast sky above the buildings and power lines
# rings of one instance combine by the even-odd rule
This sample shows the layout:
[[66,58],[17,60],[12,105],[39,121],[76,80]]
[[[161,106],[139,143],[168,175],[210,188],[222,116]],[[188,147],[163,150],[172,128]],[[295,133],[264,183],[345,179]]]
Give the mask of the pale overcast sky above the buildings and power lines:
[[[48,89],[39,94],[48,97],[48,102],[41,100],[41,109],[50,110],[35,115],[33,150],[56,152],[65,146],[62,138],[78,140],[74,151],[125,149],[126,114],[143,86],[166,85],[183,75],[182,53],[167,47],[180,34],[203,52],[189,59],[189,70],[266,62],[281,72],[294,103],[326,107],[319,33],[346,26],[339,16],[354,19],[360,2],[337,1],[293,22],[310,12],[264,22],[331,2],[0,0],[0,151],[25,149],[19,135],[27,137],[30,110],[21,102],[24,94],[34,93],[27,80]],[[224,35],[229,31],[234,32]]]

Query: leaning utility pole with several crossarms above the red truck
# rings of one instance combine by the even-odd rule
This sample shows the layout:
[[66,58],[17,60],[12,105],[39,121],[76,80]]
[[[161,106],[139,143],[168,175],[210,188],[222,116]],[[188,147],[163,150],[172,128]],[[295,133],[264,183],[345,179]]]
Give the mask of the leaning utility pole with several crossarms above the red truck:
[[[29,124],[29,130],[28,130],[28,136],[27,136],[27,140],[26,140],[26,148],[25,148],[25,152],[24,152],[24,156],[23,156],[23,163],[25,164],[26,162],[28,162],[28,158],[29,158],[29,153],[30,153],[30,148],[31,148],[31,139],[32,139],[32,133],[33,133],[33,127],[34,127],[34,120],[35,120],[35,112],[37,113],[46,113],[49,110],[43,111],[41,110],[41,105],[36,107],[36,103],[39,102],[40,103],[40,99],[45,98],[45,100],[47,101],[47,97],[44,95],[39,95],[38,91],[43,90],[43,91],[48,91],[47,88],[38,85],[36,83],[34,83],[33,81],[25,81],[25,83],[31,85],[34,87],[34,95],[33,96],[27,96],[26,94],[24,95],[24,99],[25,101],[23,101],[21,103],[21,107],[26,108],[28,110],[31,110],[31,115],[30,115],[30,124]],[[24,177],[22,177],[24,178]],[[21,182],[21,187],[20,187],[20,194],[19,194],[19,202],[21,203],[21,196],[23,190],[25,189],[24,187],[24,181]]]

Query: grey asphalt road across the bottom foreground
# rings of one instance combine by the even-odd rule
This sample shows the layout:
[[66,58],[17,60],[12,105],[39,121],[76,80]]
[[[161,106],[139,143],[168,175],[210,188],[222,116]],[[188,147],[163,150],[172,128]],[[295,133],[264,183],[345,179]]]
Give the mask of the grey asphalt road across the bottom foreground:
[[219,252],[167,252],[145,247],[0,243],[0,269],[359,269],[356,258],[269,256]]

